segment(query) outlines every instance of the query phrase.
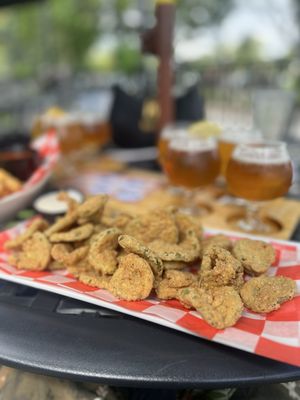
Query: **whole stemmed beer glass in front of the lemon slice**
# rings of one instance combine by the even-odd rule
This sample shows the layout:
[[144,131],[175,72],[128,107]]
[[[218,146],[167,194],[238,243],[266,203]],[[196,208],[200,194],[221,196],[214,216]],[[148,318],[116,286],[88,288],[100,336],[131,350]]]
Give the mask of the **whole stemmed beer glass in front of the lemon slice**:
[[181,133],[169,140],[163,163],[170,184],[183,190],[186,204],[183,210],[201,215],[205,210],[193,202],[193,196],[195,191],[212,184],[219,175],[216,140]]

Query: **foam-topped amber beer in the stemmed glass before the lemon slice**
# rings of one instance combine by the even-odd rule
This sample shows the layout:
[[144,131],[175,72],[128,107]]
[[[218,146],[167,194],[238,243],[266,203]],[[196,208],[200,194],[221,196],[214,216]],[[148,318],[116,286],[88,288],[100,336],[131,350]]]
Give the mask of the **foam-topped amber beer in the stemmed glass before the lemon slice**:
[[213,141],[190,138],[170,141],[165,172],[172,185],[189,189],[209,185],[218,176],[219,169]]

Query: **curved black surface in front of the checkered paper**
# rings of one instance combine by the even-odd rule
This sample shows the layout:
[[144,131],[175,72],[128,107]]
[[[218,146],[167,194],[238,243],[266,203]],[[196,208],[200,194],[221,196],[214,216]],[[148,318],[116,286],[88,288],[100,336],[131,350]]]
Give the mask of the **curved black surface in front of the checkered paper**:
[[3,280],[0,321],[0,363],[72,380],[178,389],[300,378],[300,368]]

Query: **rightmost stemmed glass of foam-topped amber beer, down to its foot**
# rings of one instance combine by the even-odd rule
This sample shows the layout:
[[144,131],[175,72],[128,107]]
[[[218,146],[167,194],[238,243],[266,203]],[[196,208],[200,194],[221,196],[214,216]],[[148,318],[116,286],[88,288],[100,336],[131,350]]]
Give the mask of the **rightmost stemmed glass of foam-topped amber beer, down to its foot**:
[[284,196],[292,183],[292,164],[286,143],[261,141],[240,144],[233,151],[226,178],[228,190],[246,200],[246,213],[238,222],[247,232],[270,232],[259,215],[262,202]]

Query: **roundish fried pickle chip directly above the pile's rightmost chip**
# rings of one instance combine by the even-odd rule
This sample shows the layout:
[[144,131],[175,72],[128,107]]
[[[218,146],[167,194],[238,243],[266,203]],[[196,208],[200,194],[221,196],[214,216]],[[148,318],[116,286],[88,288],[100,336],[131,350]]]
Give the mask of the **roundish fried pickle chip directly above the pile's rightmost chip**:
[[240,239],[234,243],[233,255],[245,271],[254,276],[264,274],[275,260],[272,245],[262,240]]

